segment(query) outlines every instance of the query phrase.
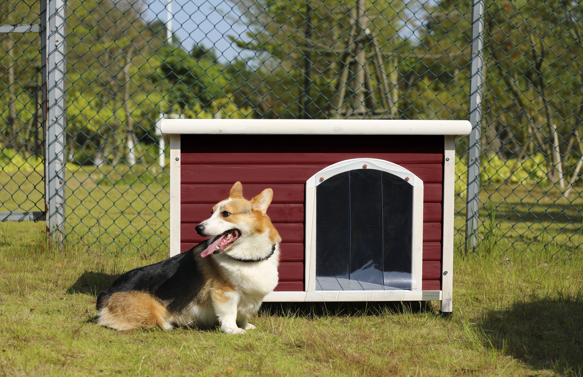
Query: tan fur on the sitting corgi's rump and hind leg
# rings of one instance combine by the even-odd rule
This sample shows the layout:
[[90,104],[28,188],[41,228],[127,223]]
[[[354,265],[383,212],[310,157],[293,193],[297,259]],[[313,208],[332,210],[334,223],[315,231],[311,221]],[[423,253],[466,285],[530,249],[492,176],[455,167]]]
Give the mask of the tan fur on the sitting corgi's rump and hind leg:
[[151,294],[139,291],[115,292],[101,311],[100,325],[115,330],[167,327],[170,313]]

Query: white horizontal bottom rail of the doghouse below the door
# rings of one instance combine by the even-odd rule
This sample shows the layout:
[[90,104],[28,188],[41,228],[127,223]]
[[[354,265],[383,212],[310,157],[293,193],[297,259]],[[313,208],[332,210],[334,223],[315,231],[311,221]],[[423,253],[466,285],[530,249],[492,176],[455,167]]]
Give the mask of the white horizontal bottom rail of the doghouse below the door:
[[[437,293],[437,298],[432,300],[441,300],[440,290],[344,290],[344,291],[289,291],[289,292],[271,292],[268,293],[263,301],[282,303],[282,302],[306,302],[306,301],[422,301],[423,293]],[[433,295],[432,295],[433,296]]]

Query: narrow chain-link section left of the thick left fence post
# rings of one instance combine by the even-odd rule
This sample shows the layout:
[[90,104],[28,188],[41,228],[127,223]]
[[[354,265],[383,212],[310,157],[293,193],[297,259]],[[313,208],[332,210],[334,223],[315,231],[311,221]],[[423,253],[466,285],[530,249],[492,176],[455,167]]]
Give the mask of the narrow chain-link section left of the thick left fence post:
[[0,220],[44,219],[41,43],[26,24],[38,2],[0,2]]

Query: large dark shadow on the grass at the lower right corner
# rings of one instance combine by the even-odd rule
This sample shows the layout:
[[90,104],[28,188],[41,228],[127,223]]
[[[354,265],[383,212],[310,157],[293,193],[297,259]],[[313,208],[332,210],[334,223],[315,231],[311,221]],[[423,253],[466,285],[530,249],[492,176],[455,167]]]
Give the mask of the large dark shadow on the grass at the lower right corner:
[[514,303],[506,310],[490,311],[478,324],[486,346],[536,369],[583,375],[581,293]]

